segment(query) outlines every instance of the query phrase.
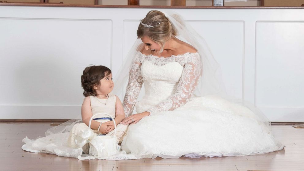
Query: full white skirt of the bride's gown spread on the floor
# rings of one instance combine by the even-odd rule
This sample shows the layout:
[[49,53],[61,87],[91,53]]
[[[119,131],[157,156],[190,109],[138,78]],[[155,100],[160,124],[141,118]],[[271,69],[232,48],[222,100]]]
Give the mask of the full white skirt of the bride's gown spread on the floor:
[[244,156],[283,147],[249,108],[219,97],[195,97],[173,111],[144,117],[129,126],[121,144],[138,158]]

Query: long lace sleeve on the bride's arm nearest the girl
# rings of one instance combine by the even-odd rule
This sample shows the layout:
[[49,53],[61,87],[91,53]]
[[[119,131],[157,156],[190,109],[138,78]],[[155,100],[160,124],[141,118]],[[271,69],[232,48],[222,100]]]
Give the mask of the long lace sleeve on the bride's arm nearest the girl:
[[142,65],[141,59],[142,57],[140,53],[137,53],[129,72],[127,91],[123,101],[124,113],[126,117],[132,114],[136,99],[143,85],[143,77],[140,73],[140,67]]

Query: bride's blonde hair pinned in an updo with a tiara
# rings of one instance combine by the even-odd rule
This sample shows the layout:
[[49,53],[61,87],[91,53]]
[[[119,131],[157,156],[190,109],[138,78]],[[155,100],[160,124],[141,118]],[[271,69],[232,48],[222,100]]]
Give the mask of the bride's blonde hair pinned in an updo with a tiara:
[[141,22],[153,27],[145,27],[139,23],[137,38],[147,36],[149,39],[161,45],[177,34],[168,18],[160,11],[149,11]]

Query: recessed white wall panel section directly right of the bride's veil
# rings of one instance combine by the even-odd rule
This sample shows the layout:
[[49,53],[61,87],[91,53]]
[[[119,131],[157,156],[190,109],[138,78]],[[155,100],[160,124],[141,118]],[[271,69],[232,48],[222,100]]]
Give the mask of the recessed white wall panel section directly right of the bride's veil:
[[[218,49],[212,51],[212,54],[222,56],[217,61],[223,71],[227,93],[242,99],[245,23],[243,21],[190,21],[190,23],[208,42],[211,49]],[[233,45],[227,46],[232,40]]]

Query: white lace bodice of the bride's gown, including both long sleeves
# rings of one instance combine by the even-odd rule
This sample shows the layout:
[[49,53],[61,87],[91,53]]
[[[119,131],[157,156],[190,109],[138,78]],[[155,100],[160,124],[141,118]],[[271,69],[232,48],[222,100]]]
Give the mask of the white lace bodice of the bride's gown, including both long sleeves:
[[197,85],[200,67],[198,52],[167,58],[136,52],[123,101],[126,116],[132,114],[143,83],[145,96],[136,103],[136,112],[152,115],[184,105]]

